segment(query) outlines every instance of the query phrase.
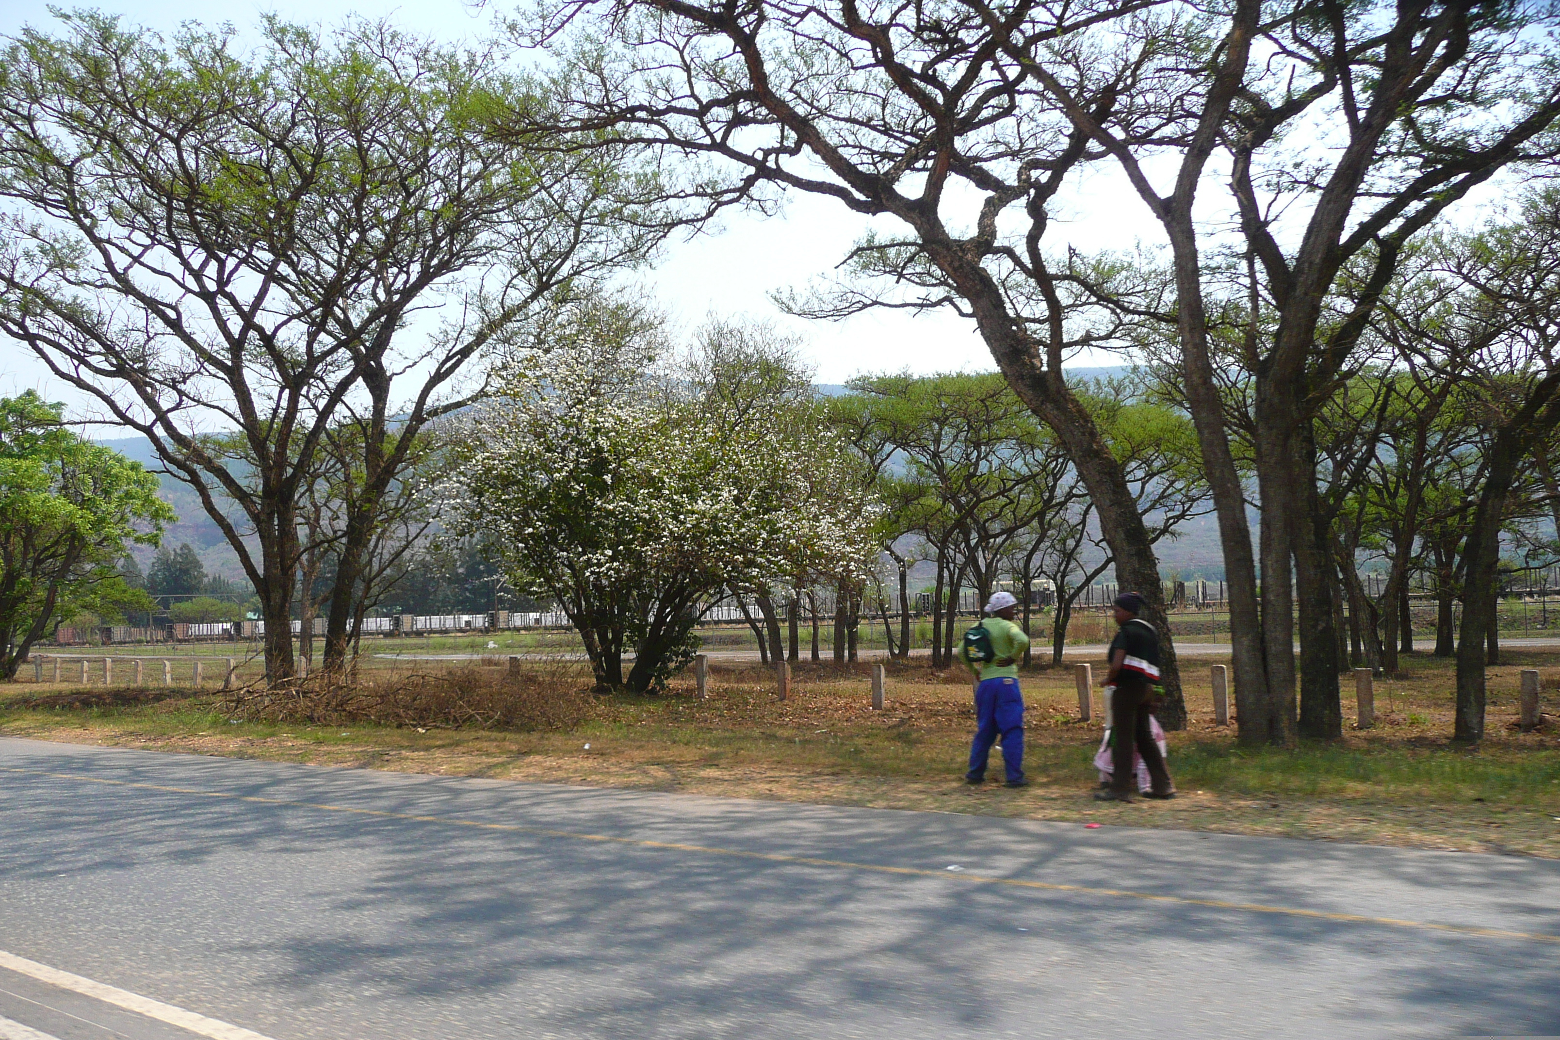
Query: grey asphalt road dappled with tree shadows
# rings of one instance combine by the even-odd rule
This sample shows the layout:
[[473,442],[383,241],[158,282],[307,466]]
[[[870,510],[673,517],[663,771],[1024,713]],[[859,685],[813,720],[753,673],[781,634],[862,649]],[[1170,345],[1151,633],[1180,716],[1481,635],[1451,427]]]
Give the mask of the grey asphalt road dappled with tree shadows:
[[1544,1034],[1551,861],[0,739],[0,1040]]

